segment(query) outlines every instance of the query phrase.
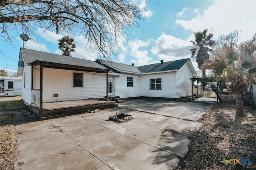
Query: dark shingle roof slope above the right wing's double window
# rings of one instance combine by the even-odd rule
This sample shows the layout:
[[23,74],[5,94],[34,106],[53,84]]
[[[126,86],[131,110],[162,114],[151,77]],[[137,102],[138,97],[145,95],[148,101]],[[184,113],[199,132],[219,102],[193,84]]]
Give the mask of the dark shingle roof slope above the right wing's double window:
[[182,65],[184,65],[187,61],[189,61],[189,58],[186,59],[180,59],[176,61],[167,61],[164,63],[156,63],[156,64],[150,64],[150,65],[142,65],[140,67],[137,67],[138,70],[141,73],[151,73],[151,72],[157,72],[157,71],[168,71],[168,70],[178,70]]

